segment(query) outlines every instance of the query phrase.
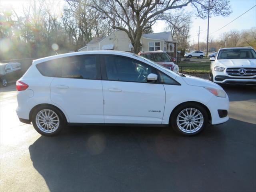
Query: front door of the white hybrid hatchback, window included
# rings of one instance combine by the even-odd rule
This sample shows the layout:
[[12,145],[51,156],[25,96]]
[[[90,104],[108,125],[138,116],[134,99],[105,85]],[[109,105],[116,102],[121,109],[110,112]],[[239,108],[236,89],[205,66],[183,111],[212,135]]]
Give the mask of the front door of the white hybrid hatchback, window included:
[[165,90],[147,82],[156,70],[122,56],[102,56],[102,88],[105,123],[161,124]]

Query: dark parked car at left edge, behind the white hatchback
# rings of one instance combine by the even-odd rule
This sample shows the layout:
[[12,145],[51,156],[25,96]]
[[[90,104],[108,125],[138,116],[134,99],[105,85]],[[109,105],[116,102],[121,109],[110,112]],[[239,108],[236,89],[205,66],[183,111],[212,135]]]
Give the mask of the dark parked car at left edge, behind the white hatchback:
[[8,83],[16,82],[22,76],[20,63],[1,63],[0,64],[0,81],[2,86]]

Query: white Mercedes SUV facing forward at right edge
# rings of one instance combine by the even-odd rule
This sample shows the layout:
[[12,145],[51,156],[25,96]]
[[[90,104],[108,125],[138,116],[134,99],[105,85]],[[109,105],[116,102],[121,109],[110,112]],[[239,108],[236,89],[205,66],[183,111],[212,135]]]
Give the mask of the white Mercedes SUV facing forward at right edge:
[[256,85],[256,52],[253,48],[222,48],[210,60],[209,79],[212,82]]

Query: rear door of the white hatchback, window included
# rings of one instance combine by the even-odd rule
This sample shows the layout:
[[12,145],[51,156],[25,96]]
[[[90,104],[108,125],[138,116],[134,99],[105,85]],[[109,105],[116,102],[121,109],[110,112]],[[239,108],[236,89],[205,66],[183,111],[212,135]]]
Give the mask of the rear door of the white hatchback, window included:
[[104,123],[100,62],[97,55],[60,59],[51,83],[52,102],[61,106],[73,123]]

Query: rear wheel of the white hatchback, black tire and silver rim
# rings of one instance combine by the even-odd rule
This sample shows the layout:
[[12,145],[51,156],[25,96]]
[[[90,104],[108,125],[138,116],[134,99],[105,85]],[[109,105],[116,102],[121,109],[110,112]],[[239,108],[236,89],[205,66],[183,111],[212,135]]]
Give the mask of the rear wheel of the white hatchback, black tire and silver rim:
[[53,106],[41,106],[34,110],[32,124],[35,130],[44,136],[57,135],[66,125],[62,112]]

